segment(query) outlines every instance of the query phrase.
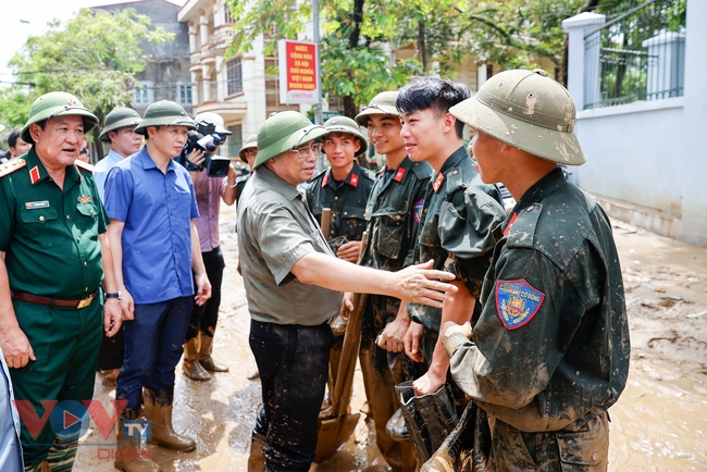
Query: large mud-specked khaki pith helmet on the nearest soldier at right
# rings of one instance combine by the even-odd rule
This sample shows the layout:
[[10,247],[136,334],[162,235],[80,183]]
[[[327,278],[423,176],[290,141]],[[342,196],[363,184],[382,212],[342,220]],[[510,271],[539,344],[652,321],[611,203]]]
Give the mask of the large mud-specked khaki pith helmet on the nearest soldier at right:
[[449,109],[458,120],[538,158],[582,165],[574,100],[545,71],[505,71]]

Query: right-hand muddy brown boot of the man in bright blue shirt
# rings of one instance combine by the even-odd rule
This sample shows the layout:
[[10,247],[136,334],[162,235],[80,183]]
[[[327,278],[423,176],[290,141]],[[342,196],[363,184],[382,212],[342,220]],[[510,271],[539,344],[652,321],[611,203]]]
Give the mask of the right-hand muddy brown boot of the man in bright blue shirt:
[[172,392],[153,392],[142,388],[142,405],[145,406],[145,418],[152,423],[152,437],[150,444],[159,444],[168,449],[188,452],[196,449],[194,439],[177,434],[172,428]]

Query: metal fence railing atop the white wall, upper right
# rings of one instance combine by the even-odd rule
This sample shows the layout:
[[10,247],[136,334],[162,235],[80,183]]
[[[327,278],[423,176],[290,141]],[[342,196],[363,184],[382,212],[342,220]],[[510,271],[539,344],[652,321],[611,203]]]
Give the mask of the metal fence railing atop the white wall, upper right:
[[584,37],[584,108],[683,95],[686,0],[634,2],[599,11],[607,22]]

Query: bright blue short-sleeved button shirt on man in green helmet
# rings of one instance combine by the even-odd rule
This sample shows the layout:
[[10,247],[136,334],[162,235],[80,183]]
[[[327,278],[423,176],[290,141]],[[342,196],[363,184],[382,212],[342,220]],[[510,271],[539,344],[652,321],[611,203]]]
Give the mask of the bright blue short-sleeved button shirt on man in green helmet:
[[111,169],[104,204],[125,223],[123,280],[135,302],[194,295],[190,220],[199,210],[186,169],[171,161],[163,174],[144,147]]

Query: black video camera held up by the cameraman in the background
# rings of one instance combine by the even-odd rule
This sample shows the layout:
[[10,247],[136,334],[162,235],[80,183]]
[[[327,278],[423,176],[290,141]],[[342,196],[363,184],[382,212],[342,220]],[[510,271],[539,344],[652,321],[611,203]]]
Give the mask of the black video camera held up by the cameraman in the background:
[[[184,145],[184,149],[182,149],[182,153],[177,158],[178,162],[184,165],[187,171],[201,172],[206,169],[209,177],[227,176],[231,160],[228,158],[213,156],[210,152],[215,151],[219,146],[224,144],[228,135],[231,135],[231,132],[222,131],[216,133],[216,125],[203,120],[197,122],[196,125],[196,129],[187,133],[187,142]],[[206,152],[206,160],[201,165],[196,165],[194,162],[189,161],[189,154],[191,154],[191,151],[195,149]]]

